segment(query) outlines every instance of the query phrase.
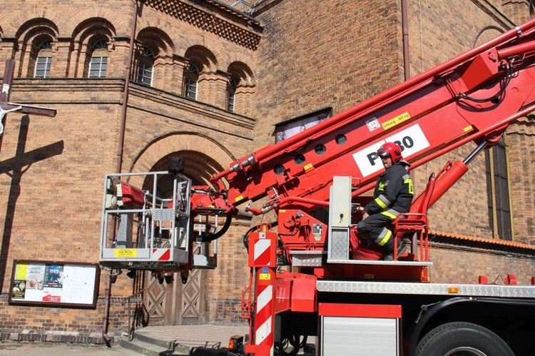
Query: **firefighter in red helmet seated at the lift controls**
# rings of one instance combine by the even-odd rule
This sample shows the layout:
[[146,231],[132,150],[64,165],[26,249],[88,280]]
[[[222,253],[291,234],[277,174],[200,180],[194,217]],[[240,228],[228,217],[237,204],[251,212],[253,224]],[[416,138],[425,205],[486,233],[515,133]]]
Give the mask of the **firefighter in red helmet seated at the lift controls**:
[[[389,230],[392,221],[399,213],[408,213],[414,188],[409,176],[409,166],[404,161],[402,149],[396,143],[384,143],[377,150],[385,171],[377,179],[373,200],[365,207],[360,207],[362,220],[357,229],[367,240],[384,249],[383,260],[394,260],[394,234]],[[403,241],[399,241],[397,255],[407,250]]]

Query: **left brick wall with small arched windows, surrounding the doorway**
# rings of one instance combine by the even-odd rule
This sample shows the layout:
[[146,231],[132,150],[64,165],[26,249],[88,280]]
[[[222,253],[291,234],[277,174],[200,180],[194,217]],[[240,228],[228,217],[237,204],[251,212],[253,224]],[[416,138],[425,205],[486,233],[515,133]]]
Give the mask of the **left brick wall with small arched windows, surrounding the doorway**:
[[[26,140],[19,144],[19,148],[17,140],[21,115],[10,113],[0,162],[16,156],[17,149],[20,151],[23,148],[24,152],[29,152],[56,145],[54,147],[61,154],[51,158],[44,157],[47,153],[33,154],[31,158],[35,162],[31,161],[31,166],[24,166],[21,168],[24,171],[14,175],[15,179],[20,179],[20,186],[12,183],[13,167],[4,167],[4,174],[0,176],[0,194],[6,197],[7,202],[0,207],[0,224],[4,226],[2,258],[6,260],[5,270],[2,270],[4,298],[9,289],[11,266],[15,258],[98,262],[103,175],[116,171],[118,153],[124,81],[113,78],[123,78],[125,75],[131,31],[131,1],[108,1],[98,9],[88,1],[63,3],[64,6],[58,6],[56,1],[39,1],[42,11],[35,10],[36,4],[26,3],[24,9],[14,9],[9,1],[0,1],[1,11],[9,9],[13,14],[13,21],[1,21],[0,24],[4,36],[0,59],[16,59],[16,77],[22,76],[14,81],[11,101],[54,107],[58,113],[55,118],[31,116]],[[190,11],[195,8],[192,4],[185,6]],[[52,33],[63,38],[62,44],[69,36],[73,36],[73,41],[78,41],[79,29],[84,29],[83,24],[93,23],[87,19],[95,16],[105,19],[101,22],[108,24],[106,26],[113,36],[107,71],[107,76],[112,79],[73,79],[85,75],[83,61],[79,59],[85,53],[79,55],[76,52],[76,43],[71,54],[65,46],[54,49],[52,75],[56,78],[25,79],[26,71],[19,71],[19,68],[27,66],[24,62],[27,56],[21,53],[23,46],[17,45],[22,44],[25,38],[16,36],[24,34],[21,26],[26,21],[33,21],[35,26],[39,26],[39,21],[34,19],[41,16],[49,20],[48,24],[56,26]],[[210,16],[215,16],[210,24],[218,26],[200,29],[198,20],[208,21]],[[180,151],[193,157],[190,163],[186,163],[188,173],[208,183],[208,177],[228,166],[234,155],[243,156],[250,150],[255,120],[243,116],[248,108],[239,103],[236,105],[236,114],[224,110],[225,96],[221,92],[225,91],[226,82],[220,79],[228,78],[228,70],[242,68],[248,76],[242,73],[243,81],[238,88],[247,91],[246,96],[254,93],[254,71],[251,68],[255,66],[255,59],[250,41],[254,42],[258,34],[255,34],[256,30],[250,31],[253,40],[243,37],[243,31],[239,37],[231,36],[233,31],[248,29],[248,26],[243,19],[236,18],[233,23],[225,16],[228,14],[221,16],[212,11],[195,11],[193,17],[178,18],[164,15],[151,6],[143,6],[141,19],[138,20],[141,39],[153,44],[151,34],[156,33],[156,37],[162,40],[155,46],[159,59],[156,61],[154,83],[158,84],[159,90],[131,85],[123,170],[148,170],[164,156]],[[225,29],[225,21],[230,32]],[[155,25],[158,31],[147,30]],[[200,47],[202,51],[199,51]],[[192,48],[195,50],[190,50]],[[178,97],[182,84],[169,80],[180,80],[183,63],[187,61],[186,54],[199,56],[201,52],[212,61],[210,66],[203,68],[207,78],[205,82],[209,83],[200,88],[203,103]],[[233,64],[230,68],[232,63],[239,65]],[[69,78],[64,79],[65,76]],[[217,80],[212,81],[212,78]],[[245,96],[238,98],[243,101]],[[191,152],[196,153],[192,155]],[[206,166],[208,160],[203,161],[203,157],[210,158],[209,167]],[[248,228],[248,220],[238,223],[225,237],[226,240],[220,243],[219,253],[223,255],[220,260],[223,260],[225,268],[210,273],[213,277],[208,281],[207,300],[217,300],[223,295],[223,304],[231,303],[231,309],[239,305],[240,289],[245,285],[242,279],[246,263],[245,249],[241,242],[235,242],[240,241]],[[102,325],[106,280],[106,273],[103,273],[96,310],[60,309],[58,315],[56,308],[41,307],[39,316],[34,316],[36,310],[32,307],[9,306],[0,313],[0,328],[34,328],[45,321],[48,330],[98,332]],[[133,293],[131,283],[121,275],[112,287],[112,334],[121,328],[125,330],[128,324],[126,304],[122,298]],[[213,319],[218,302],[212,302],[208,308],[213,310],[209,318]],[[225,315],[218,312],[217,317],[236,320],[238,314],[235,311],[230,315],[228,312]],[[49,323],[46,320],[52,321]]]

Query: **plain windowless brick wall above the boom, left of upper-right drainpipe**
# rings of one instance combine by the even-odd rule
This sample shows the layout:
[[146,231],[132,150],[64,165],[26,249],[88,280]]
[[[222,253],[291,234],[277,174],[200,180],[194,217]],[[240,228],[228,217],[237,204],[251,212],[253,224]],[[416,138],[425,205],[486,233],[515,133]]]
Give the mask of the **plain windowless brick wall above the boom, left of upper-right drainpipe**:
[[[397,1],[282,1],[258,18],[256,143],[273,127],[321,108],[339,113],[402,81]],[[373,9],[373,11],[369,11]]]

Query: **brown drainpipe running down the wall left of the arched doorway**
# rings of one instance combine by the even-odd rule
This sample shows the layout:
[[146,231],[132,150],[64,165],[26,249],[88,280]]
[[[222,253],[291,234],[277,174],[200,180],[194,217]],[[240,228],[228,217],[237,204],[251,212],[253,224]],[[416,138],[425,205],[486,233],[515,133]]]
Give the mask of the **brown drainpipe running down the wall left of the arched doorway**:
[[[130,88],[130,76],[131,68],[133,62],[133,47],[134,39],[136,38],[136,26],[138,24],[138,0],[133,1],[133,16],[132,16],[132,32],[130,35],[130,49],[128,52],[128,66],[126,67],[126,76],[125,84],[123,90],[123,106],[121,109],[121,128],[119,131],[119,147],[117,151],[117,166],[116,172],[121,173],[122,163],[123,163],[123,151],[124,151],[124,135],[126,128],[126,107],[128,106],[128,91]],[[117,275],[112,276],[112,271],[108,273],[108,282],[106,283],[106,296],[104,300],[104,317],[102,325],[102,337],[106,341],[106,345],[111,347],[110,338],[108,337],[108,324],[109,324],[109,315],[110,315],[110,304],[111,304],[111,285],[113,281],[117,278]]]

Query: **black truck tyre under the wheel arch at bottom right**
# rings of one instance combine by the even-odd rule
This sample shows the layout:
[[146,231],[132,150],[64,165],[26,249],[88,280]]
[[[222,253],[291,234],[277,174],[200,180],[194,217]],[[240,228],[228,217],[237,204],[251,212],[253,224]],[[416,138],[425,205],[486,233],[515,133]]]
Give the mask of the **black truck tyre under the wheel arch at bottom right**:
[[471,322],[448,322],[429,331],[416,347],[416,356],[514,356],[501,338]]

